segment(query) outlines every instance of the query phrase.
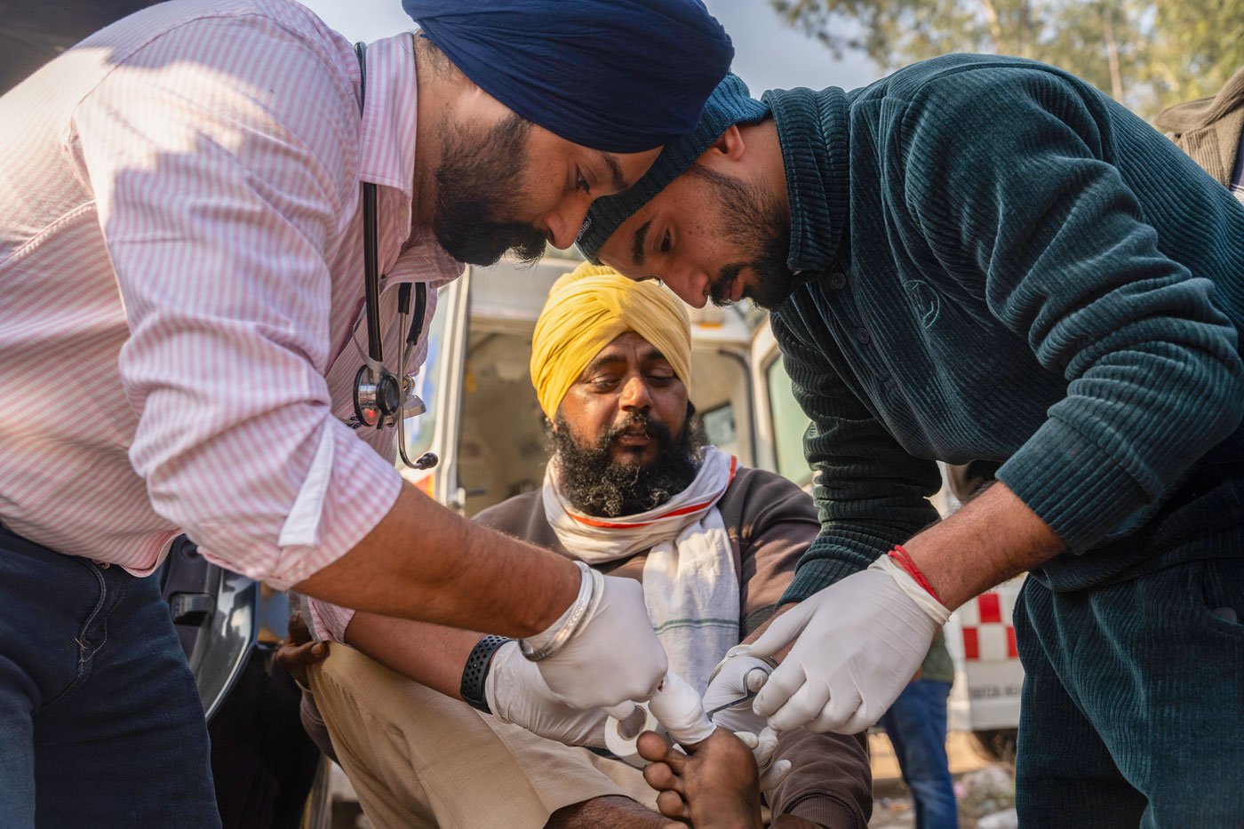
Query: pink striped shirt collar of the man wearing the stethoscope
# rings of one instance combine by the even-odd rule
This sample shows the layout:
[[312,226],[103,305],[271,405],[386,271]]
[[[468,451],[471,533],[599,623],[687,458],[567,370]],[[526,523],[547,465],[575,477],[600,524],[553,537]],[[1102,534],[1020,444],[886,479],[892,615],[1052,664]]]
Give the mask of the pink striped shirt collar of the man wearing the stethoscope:
[[401,190],[407,203],[414,190],[417,100],[411,34],[369,44],[358,174],[364,182]]

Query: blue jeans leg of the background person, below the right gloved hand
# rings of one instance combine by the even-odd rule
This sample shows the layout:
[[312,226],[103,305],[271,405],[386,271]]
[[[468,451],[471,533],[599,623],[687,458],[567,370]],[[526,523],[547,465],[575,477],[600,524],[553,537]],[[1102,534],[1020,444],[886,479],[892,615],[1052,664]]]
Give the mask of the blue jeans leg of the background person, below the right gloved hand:
[[881,724],[894,746],[903,782],[916,802],[917,829],[957,829],[959,809],[945,757],[945,701],[950,683],[916,680],[894,700]]

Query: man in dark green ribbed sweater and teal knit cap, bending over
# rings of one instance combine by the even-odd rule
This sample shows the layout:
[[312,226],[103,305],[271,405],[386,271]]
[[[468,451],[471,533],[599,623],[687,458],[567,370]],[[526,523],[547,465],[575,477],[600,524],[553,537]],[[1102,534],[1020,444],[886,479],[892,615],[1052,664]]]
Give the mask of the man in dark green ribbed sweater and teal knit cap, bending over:
[[[1021,822],[1238,825],[1244,207],[1018,59],[764,105],[702,121],[580,234],[692,305],[773,310],[821,533],[754,647],[794,641],[756,712],[866,728],[952,609],[1028,570]],[[934,459],[1001,466],[937,522]]]

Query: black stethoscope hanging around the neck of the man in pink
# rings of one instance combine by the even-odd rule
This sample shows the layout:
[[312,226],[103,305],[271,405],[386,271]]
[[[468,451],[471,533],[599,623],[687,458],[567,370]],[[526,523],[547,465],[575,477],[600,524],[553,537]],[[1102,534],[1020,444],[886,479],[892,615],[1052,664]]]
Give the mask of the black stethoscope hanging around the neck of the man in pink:
[[[367,95],[367,47],[355,44],[358,56],[360,95],[362,108]],[[398,349],[397,375],[384,366],[384,346],[381,332],[381,276],[378,238],[376,227],[376,185],[363,182],[363,316],[367,324],[367,354],[363,365],[355,375],[355,417],[363,426],[384,428],[397,423],[397,448],[402,462],[412,469],[430,469],[439,458],[432,452],[420,454],[414,461],[406,454],[406,418],[423,415],[428,411],[423,401],[414,393],[414,377],[406,373],[406,358],[423,336],[423,316],[428,311],[428,286],[419,283],[414,286],[414,317],[407,327],[411,311],[411,284],[397,286],[397,314],[399,329],[406,329],[406,342]],[[358,347],[358,344],[355,344]],[[360,349],[362,352],[362,349]],[[401,380],[399,380],[401,378]]]

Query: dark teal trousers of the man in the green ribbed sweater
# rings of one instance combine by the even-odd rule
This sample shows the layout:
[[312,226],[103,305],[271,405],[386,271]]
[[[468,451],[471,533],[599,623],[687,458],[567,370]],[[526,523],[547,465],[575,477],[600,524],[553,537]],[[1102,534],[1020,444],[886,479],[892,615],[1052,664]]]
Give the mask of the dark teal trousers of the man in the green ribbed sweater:
[[[1228,535],[1224,549],[1244,550],[1244,530]],[[1244,825],[1242,622],[1244,558],[1071,592],[1029,578],[1015,606],[1020,825]]]

